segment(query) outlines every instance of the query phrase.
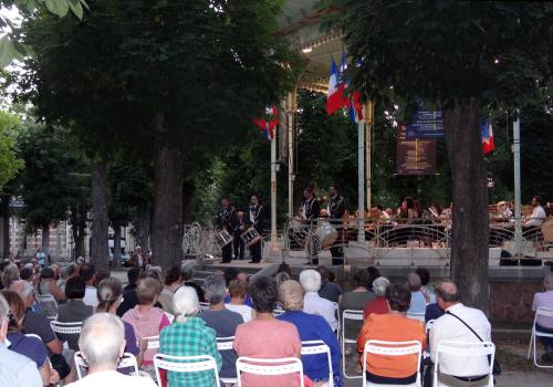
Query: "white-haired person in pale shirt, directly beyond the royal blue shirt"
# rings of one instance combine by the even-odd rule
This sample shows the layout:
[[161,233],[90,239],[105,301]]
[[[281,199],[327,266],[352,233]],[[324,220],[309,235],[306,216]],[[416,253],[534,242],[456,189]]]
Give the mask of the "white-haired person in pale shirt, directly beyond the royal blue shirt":
[[323,316],[332,331],[336,331],[338,327],[336,305],[317,293],[321,289],[321,274],[313,269],[304,270],[300,273],[300,283],[305,290],[303,312]]

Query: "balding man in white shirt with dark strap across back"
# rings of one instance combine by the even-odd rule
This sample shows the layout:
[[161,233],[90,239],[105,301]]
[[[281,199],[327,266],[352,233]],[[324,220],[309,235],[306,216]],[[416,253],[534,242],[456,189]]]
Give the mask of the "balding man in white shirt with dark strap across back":
[[[455,283],[448,280],[442,281],[436,287],[436,300],[446,314],[436,320],[430,328],[430,356],[434,363],[436,363],[436,352],[441,341],[480,343],[480,339],[459,318],[474,330],[483,341],[491,341],[490,322],[482,311],[465,306],[459,301]],[[440,379],[450,386],[487,385],[486,375],[489,373],[489,360],[487,356],[461,358],[440,355],[439,372]]]

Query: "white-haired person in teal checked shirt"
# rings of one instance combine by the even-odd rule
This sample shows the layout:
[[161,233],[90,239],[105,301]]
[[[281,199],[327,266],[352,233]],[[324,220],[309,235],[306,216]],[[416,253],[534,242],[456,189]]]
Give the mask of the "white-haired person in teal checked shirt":
[[[159,352],[173,356],[210,355],[221,370],[222,358],[217,349],[216,332],[206,326],[206,322],[197,316],[199,312],[198,293],[194,287],[181,286],[173,297],[175,321],[161,331]],[[221,322],[219,322],[219,325]],[[167,373],[169,386],[215,386],[212,372]]]

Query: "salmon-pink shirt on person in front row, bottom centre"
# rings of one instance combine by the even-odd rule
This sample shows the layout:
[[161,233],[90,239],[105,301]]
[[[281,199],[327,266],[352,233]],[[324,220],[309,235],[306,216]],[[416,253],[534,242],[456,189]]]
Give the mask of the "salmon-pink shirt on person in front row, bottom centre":
[[[238,356],[258,358],[298,357],[302,343],[295,325],[279,320],[252,320],[240,324],[234,336]],[[259,376],[242,374],[243,387],[299,386],[299,375]]]

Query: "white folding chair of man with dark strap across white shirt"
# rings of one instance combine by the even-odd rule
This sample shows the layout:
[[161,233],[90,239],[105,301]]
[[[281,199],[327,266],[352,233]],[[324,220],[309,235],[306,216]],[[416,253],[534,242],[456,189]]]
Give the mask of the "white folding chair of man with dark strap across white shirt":
[[[440,359],[444,357],[444,355],[458,356],[465,358],[467,357],[473,358],[476,356],[482,356],[482,357],[487,356],[488,357],[487,360],[489,363],[487,373],[488,387],[493,387],[493,357],[495,356],[495,345],[493,345],[493,343],[491,342],[463,343],[463,342],[450,342],[450,341],[439,342],[438,347],[436,348],[436,364],[434,366],[434,383],[432,383],[434,387],[440,387],[440,386],[447,387],[446,384],[439,383],[438,378]],[[462,359],[459,359],[459,362],[462,362]],[[472,376],[480,376],[480,375],[472,375]]]

